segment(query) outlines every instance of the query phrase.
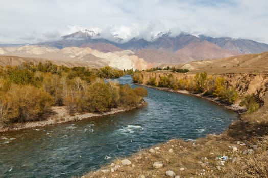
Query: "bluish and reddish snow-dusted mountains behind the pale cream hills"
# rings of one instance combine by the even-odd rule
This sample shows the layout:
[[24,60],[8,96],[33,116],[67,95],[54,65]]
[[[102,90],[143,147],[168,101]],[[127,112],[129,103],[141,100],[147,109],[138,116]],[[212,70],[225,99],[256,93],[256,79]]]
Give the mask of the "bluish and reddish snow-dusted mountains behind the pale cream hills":
[[133,37],[126,41],[116,34],[106,39],[102,37],[101,31],[93,30],[77,31],[61,38],[58,41],[42,42],[38,45],[59,49],[74,46],[90,47],[101,52],[131,50],[147,62],[168,64],[268,51],[268,44],[253,40],[194,36],[187,33],[173,36],[171,31],[160,32],[151,40]]

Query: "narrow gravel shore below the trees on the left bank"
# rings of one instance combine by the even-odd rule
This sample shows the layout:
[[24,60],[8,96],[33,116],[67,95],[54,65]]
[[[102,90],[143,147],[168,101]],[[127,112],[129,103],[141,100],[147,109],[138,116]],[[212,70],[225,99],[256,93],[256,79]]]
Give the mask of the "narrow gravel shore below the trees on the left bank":
[[94,117],[103,117],[108,115],[114,115],[120,112],[130,111],[145,106],[147,106],[147,102],[142,100],[142,102],[137,104],[136,106],[112,108],[110,111],[104,113],[83,113],[83,114],[76,113],[74,116],[68,114],[66,106],[54,106],[52,107],[52,110],[50,114],[47,116],[47,118],[42,121],[14,123],[10,126],[0,128],[0,132],[21,130],[34,127],[44,127],[48,125],[68,123],[72,121],[84,120]]

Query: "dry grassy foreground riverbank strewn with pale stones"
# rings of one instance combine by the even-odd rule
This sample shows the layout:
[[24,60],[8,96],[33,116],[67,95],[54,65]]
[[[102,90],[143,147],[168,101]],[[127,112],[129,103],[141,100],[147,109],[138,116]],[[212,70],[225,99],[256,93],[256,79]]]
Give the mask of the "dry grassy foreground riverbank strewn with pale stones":
[[220,135],[173,139],[82,177],[268,177],[268,96],[262,99],[258,111],[242,114]]

